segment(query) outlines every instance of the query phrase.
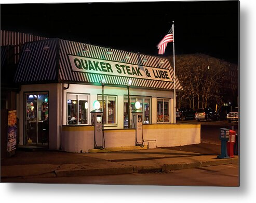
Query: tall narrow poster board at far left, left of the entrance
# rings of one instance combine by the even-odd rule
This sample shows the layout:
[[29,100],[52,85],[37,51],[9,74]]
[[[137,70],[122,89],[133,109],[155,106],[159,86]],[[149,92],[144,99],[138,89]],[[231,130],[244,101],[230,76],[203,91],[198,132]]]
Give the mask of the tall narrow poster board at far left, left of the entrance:
[[7,151],[16,149],[17,143],[17,112],[16,110],[8,111],[8,142]]

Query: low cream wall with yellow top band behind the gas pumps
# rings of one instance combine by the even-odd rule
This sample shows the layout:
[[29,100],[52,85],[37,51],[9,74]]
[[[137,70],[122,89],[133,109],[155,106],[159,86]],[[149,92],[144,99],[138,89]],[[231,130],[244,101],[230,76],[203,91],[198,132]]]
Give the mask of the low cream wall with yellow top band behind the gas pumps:
[[[62,150],[89,152],[94,149],[93,126],[62,126]],[[105,148],[136,146],[135,129],[104,130]],[[145,145],[155,141],[157,147],[175,147],[200,143],[200,124],[143,125]]]

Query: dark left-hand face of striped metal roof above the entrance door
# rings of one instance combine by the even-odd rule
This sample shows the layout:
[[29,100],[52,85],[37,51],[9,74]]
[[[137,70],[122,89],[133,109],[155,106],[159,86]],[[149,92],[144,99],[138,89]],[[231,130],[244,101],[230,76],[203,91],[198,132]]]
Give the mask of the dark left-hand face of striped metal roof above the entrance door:
[[[43,48],[47,45],[49,49]],[[58,40],[49,39],[25,44],[15,75],[15,82],[44,83],[58,81]],[[30,51],[24,51],[28,48]]]

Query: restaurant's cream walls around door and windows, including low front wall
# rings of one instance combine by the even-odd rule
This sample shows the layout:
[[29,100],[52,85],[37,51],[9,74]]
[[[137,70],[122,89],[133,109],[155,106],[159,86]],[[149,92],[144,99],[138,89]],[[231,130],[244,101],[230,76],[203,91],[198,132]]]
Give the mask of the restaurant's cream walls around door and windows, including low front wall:
[[[102,93],[102,87],[96,85],[71,84],[68,90],[63,91],[67,84],[33,84],[21,85],[17,96],[17,115],[20,119],[20,144],[24,144],[24,93],[49,92],[49,149],[69,152],[88,152],[94,148],[93,126],[66,126],[66,94],[90,94],[90,109],[92,101]],[[117,125],[105,126],[105,147],[135,146],[135,130],[123,129],[124,95],[126,88],[105,86],[104,94],[117,95]],[[157,98],[172,98],[173,93],[168,91],[130,89],[132,96],[151,96],[151,121],[153,124],[143,125],[143,138],[145,144],[149,140],[156,140],[157,147],[182,146],[200,143],[199,124],[156,124]],[[173,99],[171,99],[171,106]],[[172,109],[172,108],[171,108]],[[172,111],[171,111],[172,114]],[[171,116],[173,122],[173,116]]]

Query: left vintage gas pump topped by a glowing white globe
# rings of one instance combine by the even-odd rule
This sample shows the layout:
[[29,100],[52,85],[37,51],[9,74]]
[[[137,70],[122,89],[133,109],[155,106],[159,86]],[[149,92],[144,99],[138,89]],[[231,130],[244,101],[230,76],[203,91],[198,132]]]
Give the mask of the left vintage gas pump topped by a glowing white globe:
[[103,146],[102,142],[102,111],[100,109],[99,101],[93,103],[95,110],[91,111],[91,125],[94,125],[94,140],[95,140],[95,149],[100,149]]

